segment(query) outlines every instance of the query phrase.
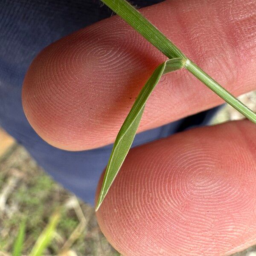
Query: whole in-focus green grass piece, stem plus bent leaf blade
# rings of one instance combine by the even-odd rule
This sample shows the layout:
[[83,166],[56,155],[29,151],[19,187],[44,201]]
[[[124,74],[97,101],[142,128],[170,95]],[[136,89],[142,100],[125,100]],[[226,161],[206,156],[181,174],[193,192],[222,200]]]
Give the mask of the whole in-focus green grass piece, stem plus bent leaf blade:
[[[220,96],[224,101],[230,104],[237,111],[242,113],[245,117],[256,123],[256,113],[251,111],[247,106],[236,99],[231,93],[221,87],[214,79],[212,79],[207,73],[201,70],[195,63],[187,58],[173,44],[165,35],[163,35],[155,26],[153,26],[143,15],[140,14],[133,6],[131,6],[125,0],[101,0],[109,8],[125,20],[130,26],[132,26],[137,32],[139,32],[145,39],[153,44],[157,49],[166,55],[170,60],[160,64],[149,78],[139,96],[137,97],[134,105],[131,108],[125,122],[123,123],[113,145],[111,157],[108,161],[108,166],[105,172],[104,180],[102,183],[102,189],[99,194],[99,198],[96,204],[96,211],[99,209],[102,201],[108,193],[113,180],[115,179],[122,163],[125,160],[126,155],[131,147],[131,143],[134,140],[137,128],[140,124],[140,119],[143,115],[146,100],[151,94],[152,90],[160,80],[161,76],[165,73],[172,72],[185,68],[192,73],[196,78],[202,81],[209,89]],[[174,61],[174,62],[172,62]],[[174,64],[175,63],[175,64]],[[170,65],[170,69],[166,67]],[[176,65],[176,66],[175,66]]]

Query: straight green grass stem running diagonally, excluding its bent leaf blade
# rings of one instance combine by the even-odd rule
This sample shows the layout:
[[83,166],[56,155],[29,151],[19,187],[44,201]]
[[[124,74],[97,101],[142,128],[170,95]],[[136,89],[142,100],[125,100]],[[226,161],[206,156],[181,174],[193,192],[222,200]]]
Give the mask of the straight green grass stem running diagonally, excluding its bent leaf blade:
[[[137,32],[139,32],[145,39],[154,45],[157,49],[163,52],[168,58],[186,58],[185,55],[173,44],[162,32],[153,26],[143,15],[140,14],[133,6],[126,0],[101,0],[109,8],[111,8],[117,15],[125,20]],[[239,99],[236,99],[231,93],[221,87],[215,80],[213,80],[207,73],[194,64],[187,58],[186,69],[203,82],[207,87],[213,90],[224,101],[230,104],[233,108],[239,111],[242,115],[256,123],[256,113],[247,108]]]

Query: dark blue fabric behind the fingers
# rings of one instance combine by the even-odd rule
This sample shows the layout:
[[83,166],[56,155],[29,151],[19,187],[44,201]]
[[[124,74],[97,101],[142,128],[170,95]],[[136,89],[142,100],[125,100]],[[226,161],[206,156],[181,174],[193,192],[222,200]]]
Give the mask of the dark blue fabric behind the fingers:
[[[137,0],[138,7],[160,0]],[[68,152],[45,143],[26,120],[21,87],[32,59],[53,41],[111,16],[98,0],[0,0],[0,125],[64,187],[90,204],[112,145]],[[215,110],[138,134],[134,145],[205,125]]]

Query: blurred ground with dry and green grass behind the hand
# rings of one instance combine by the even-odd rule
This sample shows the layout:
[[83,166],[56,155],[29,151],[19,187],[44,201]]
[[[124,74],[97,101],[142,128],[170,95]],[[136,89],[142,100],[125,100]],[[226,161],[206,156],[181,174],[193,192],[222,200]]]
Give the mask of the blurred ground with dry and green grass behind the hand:
[[[256,111],[256,92],[240,99]],[[212,124],[241,118],[237,111],[225,105]],[[23,147],[0,130],[0,256],[13,255],[23,221],[26,230],[22,254],[30,255],[56,212],[60,216],[55,219],[58,219],[57,227],[52,230],[43,255],[119,255],[99,230],[94,209],[55,183]],[[256,246],[235,255],[256,256]]]

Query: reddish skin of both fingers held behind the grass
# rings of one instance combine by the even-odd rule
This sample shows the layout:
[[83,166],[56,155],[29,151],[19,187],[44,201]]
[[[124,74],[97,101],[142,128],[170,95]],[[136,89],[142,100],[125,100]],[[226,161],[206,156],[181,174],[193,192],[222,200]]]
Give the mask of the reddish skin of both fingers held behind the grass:
[[[141,12],[239,95],[256,89],[255,9],[253,0],[183,0]],[[23,84],[25,114],[56,147],[112,143],[140,88],[164,60],[119,17],[102,20],[35,58]],[[186,70],[168,74],[148,100],[139,131],[220,103]],[[103,233],[127,256],[228,255],[256,243],[255,141],[256,126],[240,121],[132,149],[97,212]]]

